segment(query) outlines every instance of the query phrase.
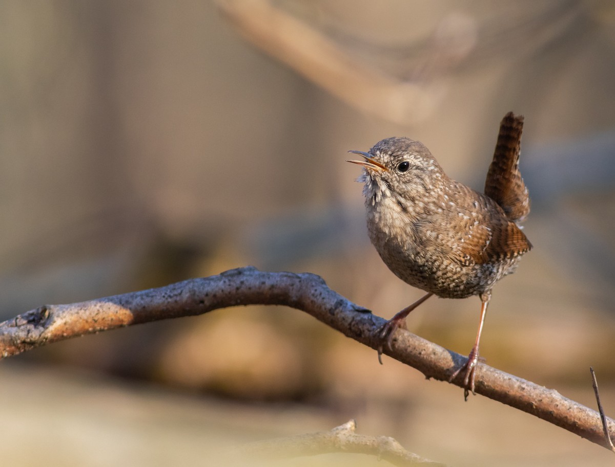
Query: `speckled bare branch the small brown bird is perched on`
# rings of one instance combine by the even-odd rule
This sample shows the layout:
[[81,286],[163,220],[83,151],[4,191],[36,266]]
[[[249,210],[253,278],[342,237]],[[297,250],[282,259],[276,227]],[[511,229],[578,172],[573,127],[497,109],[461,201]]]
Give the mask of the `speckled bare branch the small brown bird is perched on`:
[[[0,355],[2,358],[17,355],[82,334],[254,304],[303,310],[372,349],[379,344],[374,332],[384,323],[383,318],[328,288],[319,276],[261,272],[248,267],[161,288],[39,307],[0,323]],[[392,349],[385,349],[384,353],[418,369],[427,378],[443,381],[465,361],[458,353],[405,330],[395,333]],[[454,380],[453,384],[463,387],[461,379]],[[556,390],[479,363],[476,392],[608,448],[598,412],[561,396]],[[608,419],[607,425],[613,438],[615,422]]]

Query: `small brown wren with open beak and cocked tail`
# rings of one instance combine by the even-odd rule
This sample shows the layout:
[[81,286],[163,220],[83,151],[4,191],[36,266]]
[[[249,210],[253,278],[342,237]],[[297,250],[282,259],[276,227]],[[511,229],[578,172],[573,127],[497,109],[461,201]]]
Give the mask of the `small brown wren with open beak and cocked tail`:
[[[364,182],[370,239],[395,276],[427,295],[397,313],[378,329],[391,347],[395,330],[432,295],[482,303],[474,347],[466,363],[464,396],[474,392],[478,344],[491,288],[514,272],[532,245],[517,225],[530,212],[530,196],[519,172],[523,117],[506,114],[500,125],[485,194],[450,179],[421,142],[392,137],[378,142],[363,161],[357,181]],[[382,345],[378,349],[378,358]],[[382,363],[382,361],[381,361]]]

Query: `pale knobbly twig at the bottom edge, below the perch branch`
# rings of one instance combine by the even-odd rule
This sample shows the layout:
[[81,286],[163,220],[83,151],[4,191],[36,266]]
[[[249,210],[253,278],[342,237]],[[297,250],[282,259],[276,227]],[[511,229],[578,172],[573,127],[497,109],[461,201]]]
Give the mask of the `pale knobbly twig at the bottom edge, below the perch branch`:
[[257,455],[280,459],[319,455],[333,452],[375,455],[397,466],[444,467],[444,464],[424,459],[403,448],[388,436],[356,434],[357,423],[349,420],[331,431],[298,434],[287,438],[267,439],[245,444],[237,449],[240,455]]

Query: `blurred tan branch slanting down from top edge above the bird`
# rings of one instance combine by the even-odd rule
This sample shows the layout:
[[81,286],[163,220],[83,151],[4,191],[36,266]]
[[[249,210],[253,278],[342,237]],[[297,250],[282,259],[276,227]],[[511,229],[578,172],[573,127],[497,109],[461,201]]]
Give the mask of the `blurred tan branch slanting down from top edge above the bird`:
[[[370,66],[331,37],[271,2],[216,0],[216,3],[249,42],[363,112],[408,124],[431,114],[445,96],[442,86],[434,82],[426,82],[419,76],[403,80]],[[455,37],[446,37],[446,41],[438,41],[435,34],[430,50],[432,59],[424,63],[424,73],[436,63],[462,60],[472,50],[474,23],[461,17],[448,21],[461,27]],[[443,31],[451,29],[443,28]],[[451,44],[456,47],[451,48]]]

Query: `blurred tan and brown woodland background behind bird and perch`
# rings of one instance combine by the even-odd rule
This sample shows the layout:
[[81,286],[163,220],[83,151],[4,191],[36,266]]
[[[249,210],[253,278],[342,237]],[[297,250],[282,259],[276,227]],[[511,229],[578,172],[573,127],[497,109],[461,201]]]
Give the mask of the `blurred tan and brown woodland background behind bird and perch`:
[[[513,110],[534,250],[481,353],[595,407],[592,365],[613,416],[614,26],[606,0],[2,1],[0,318],[247,264],[389,318],[422,292],[371,247],[347,150],[410,136],[482,190]],[[465,355],[479,311],[433,299],[408,327]],[[209,465],[350,418],[449,465],[612,455],[284,307],[49,345],[0,380],[7,466]]]

